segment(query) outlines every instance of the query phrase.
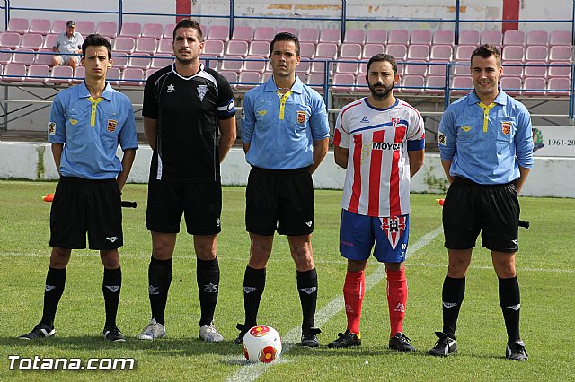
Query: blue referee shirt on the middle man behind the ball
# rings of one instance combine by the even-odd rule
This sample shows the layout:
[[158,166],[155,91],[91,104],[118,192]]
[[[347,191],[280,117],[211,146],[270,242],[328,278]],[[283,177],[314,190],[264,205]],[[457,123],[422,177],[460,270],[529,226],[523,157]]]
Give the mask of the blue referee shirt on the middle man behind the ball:
[[262,169],[300,169],[314,163],[314,141],[330,136],[322,96],[296,82],[283,96],[270,77],[245,93],[242,141],[250,143],[245,159]]

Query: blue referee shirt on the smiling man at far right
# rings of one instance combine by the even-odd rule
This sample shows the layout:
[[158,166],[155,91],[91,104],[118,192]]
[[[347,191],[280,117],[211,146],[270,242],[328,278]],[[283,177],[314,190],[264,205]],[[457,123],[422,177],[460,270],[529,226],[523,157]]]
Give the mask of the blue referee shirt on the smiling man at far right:
[[475,91],[449,105],[438,141],[441,159],[452,161],[450,175],[482,185],[509,183],[519,178],[519,166],[533,166],[531,116],[501,89],[491,105]]

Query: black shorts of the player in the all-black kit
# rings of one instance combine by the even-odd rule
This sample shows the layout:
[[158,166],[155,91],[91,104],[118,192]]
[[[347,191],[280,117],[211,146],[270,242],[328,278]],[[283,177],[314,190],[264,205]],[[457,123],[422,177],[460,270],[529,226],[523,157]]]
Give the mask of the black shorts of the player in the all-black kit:
[[146,228],[180,232],[181,214],[190,235],[216,235],[221,229],[222,186],[219,182],[172,182],[150,179],[147,187]]

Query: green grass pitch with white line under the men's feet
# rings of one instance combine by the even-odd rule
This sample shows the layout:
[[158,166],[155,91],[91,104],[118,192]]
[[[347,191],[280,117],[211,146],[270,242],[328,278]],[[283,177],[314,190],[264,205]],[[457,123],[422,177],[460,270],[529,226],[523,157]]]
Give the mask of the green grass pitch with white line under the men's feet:
[[[411,195],[411,237],[406,262],[409,300],[404,331],[417,352],[387,349],[389,316],[385,278],[375,261],[367,266],[371,289],[361,322],[363,344],[353,349],[325,345],[345,329],[341,289],[346,263],[338,253],[341,191],[317,190],[314,258],[319,276],[319,349],[293,346],[298,340],[301,308],[296,269],[285,238],[276,236],[268,265],[259,321],[284,338],[284,352],[271,366],[247,366],[241,346],[232,341],[243,321],[243,271],[249,239],[244,230],[243,187],[224,188],[223,231],[218,237],[221,268],[216,325],[224,343],[198,339],[199,300],[192,240],[181,233],[174,253],[173,282],[166,309],[168,337],[142,342],[136,335],[149,320],[147,265],[151,251],[145,227],[146,185],[125,187],[123,198],[137,201],[124,209],[125,246],[120,248],[123,284],[118,325],[126,343],[103,341],[102,264],[96,252],[74,251],[67,268],[66,291],[57,311],[54,337],[32,343],[16,339],[41,317],[44,280],[49,265],[49,208],[41,196],[56,183],[0,181],[0,380],[394,380],[394,381],[562,381],[575,378],[575,200],[521,198],[517,274],[521,287],[521,333],[529,360],[504,359],[507,336],[497,296],[491,256],[476,247],[467,276],[464,305],[457,326],[459,352],[446,359],[429,357],[434,331],[441,329],[441,285],[447,270],[443,247],[441,195]],[[182,232],[184,232],[182,227]],[[123,371],[16,371],[9,356],[22,358],[133,358]]]

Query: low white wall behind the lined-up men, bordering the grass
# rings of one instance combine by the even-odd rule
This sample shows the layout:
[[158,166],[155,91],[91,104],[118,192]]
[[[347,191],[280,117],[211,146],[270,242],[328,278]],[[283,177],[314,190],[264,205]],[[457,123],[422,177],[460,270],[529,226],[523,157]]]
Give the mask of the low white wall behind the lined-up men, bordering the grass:
[[[137,151],[128,182],[147,182],[151,156],[150,147],[142,145]],[[222,183],[226,186],[245,186],[249,170],[243,150],[233,148],[222,164]],[[575,182],[566,176],[574,173],[575,158],[536,157],[521,195],[575,198]],[[57,179],[49,143],[0,143],[0,178]],[[333,152],[328,152],[314,173],[314,186],[341,189],[344,178],[345,170],[335,165]],[[426,155],[423,168],[412,179],[411,189],[416,193],[441,194],[447,191],[447,179],[437,153]]]

